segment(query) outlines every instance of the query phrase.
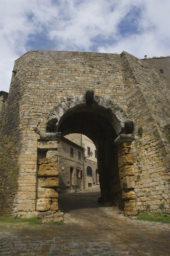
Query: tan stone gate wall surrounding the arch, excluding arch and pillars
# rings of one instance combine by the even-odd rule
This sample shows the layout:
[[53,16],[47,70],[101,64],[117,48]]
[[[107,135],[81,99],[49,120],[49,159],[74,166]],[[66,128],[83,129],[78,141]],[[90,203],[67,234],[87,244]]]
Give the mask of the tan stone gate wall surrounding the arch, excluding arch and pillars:
[[[164,204],[165,211],[169,212],[170,144],[164,126],[170,124],[170,97],[154,68],[125,52],[119,55],[31,51],[15,61],[14,70],[16,74],[12,75],[6,108],[1,108],[3,118],[8,121],[4,133],[14,143],[19,168],[10,214],[34,215],[38,140],[49,136],[46,123],[53,109],[67,98],[85,95],[89,88],[94,89],[96,96],[116,103],[134,123],[136,140],[132,142],[129,154],[132,154],[135,171],[136,209],[146,210],[150,205],[151,213],[154,213],[160,211],[160,204]],[[119,110],[118,113],[122,112]],[[140,135],[139,127],[143,131]],[[111,130],[109,134],[112,134]],[[117,154],[117,149],[112,153]],[[118,179],[117,156],[115,161]],[[109,177],[112,168],[107,166],[107,170]],[[118,184],[117,191],[122,193],[119,183],[115,183]]]

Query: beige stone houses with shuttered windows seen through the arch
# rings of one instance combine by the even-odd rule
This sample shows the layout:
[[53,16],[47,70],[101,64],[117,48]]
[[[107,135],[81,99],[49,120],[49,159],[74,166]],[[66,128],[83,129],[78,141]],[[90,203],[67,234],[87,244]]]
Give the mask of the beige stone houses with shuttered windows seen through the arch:
[[63,137],[58,144],[58,155],[58,193],[99,185],[96,147],[87,136],[73,133]]

